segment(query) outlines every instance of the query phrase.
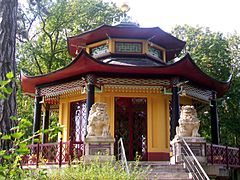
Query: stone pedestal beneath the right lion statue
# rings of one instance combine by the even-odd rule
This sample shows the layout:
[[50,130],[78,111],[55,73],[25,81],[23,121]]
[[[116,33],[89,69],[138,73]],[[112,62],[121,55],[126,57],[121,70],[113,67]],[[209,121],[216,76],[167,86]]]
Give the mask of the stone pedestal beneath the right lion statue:
[[182,154],[184,153],[182,147],[185,146],[182,139],[186,141],[193,154],[201,164],[207,162],[205,152],[206,140],[203,137],[175,137],[170,143],[172,146],[172,157],[170,159],[171,164],[182,163]]

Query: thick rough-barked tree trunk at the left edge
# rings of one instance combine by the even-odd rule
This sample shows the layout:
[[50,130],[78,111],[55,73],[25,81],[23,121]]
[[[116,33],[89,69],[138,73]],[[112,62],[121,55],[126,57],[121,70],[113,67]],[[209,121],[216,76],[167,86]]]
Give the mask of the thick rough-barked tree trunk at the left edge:
[[[15,43],[17,30],[17,0],[0,0],[0,81],[6,80],[6,74],[13,72],[16,75]],[[0,132],[10,133],[16,116],[16,83],[9,85],[13,89],[6,99],[0,99]],[[0,149],[8,149],[7,141],[0,141]]]

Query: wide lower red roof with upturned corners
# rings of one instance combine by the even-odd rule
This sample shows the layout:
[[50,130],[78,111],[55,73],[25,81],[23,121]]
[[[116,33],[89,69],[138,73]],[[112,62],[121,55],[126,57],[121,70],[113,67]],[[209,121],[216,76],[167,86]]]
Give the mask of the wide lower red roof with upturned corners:
[[230,86],[230,80],[227,82],[217,81],[201,71],[189,54],[186,54],[181,60],[169,65],[129,66],[104,63],[94,59],[85,50],[82,50],[69,65],[51,73],[38,76],[27,76],[21,73],[21,85],[25,93],[34,94],[37,86],[61,82],[66,79],[81,77],[90,73],[155,77],[177,76],[190,80],[199,86],[217,91],[218,96],[222,96]]

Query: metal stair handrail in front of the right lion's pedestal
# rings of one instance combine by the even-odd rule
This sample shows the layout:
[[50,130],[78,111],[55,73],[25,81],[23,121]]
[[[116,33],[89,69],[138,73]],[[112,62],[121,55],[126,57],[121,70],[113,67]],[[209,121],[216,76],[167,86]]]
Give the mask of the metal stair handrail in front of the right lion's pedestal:
[[198,162],[196,156],[193,154],[186,141],[182,139],[182,142],[184,144],[181,146],[182,159],[186,165],[188,172],[192,174],[193,179],[209,180],[208,175],[202,168],[201,164]]

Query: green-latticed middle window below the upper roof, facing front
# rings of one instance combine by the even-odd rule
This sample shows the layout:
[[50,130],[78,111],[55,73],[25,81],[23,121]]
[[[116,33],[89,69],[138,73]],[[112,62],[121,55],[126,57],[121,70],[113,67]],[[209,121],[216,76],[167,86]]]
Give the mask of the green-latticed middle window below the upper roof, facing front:
[[142,43],[139,42],[116,42],[116,53],[142,53]]

